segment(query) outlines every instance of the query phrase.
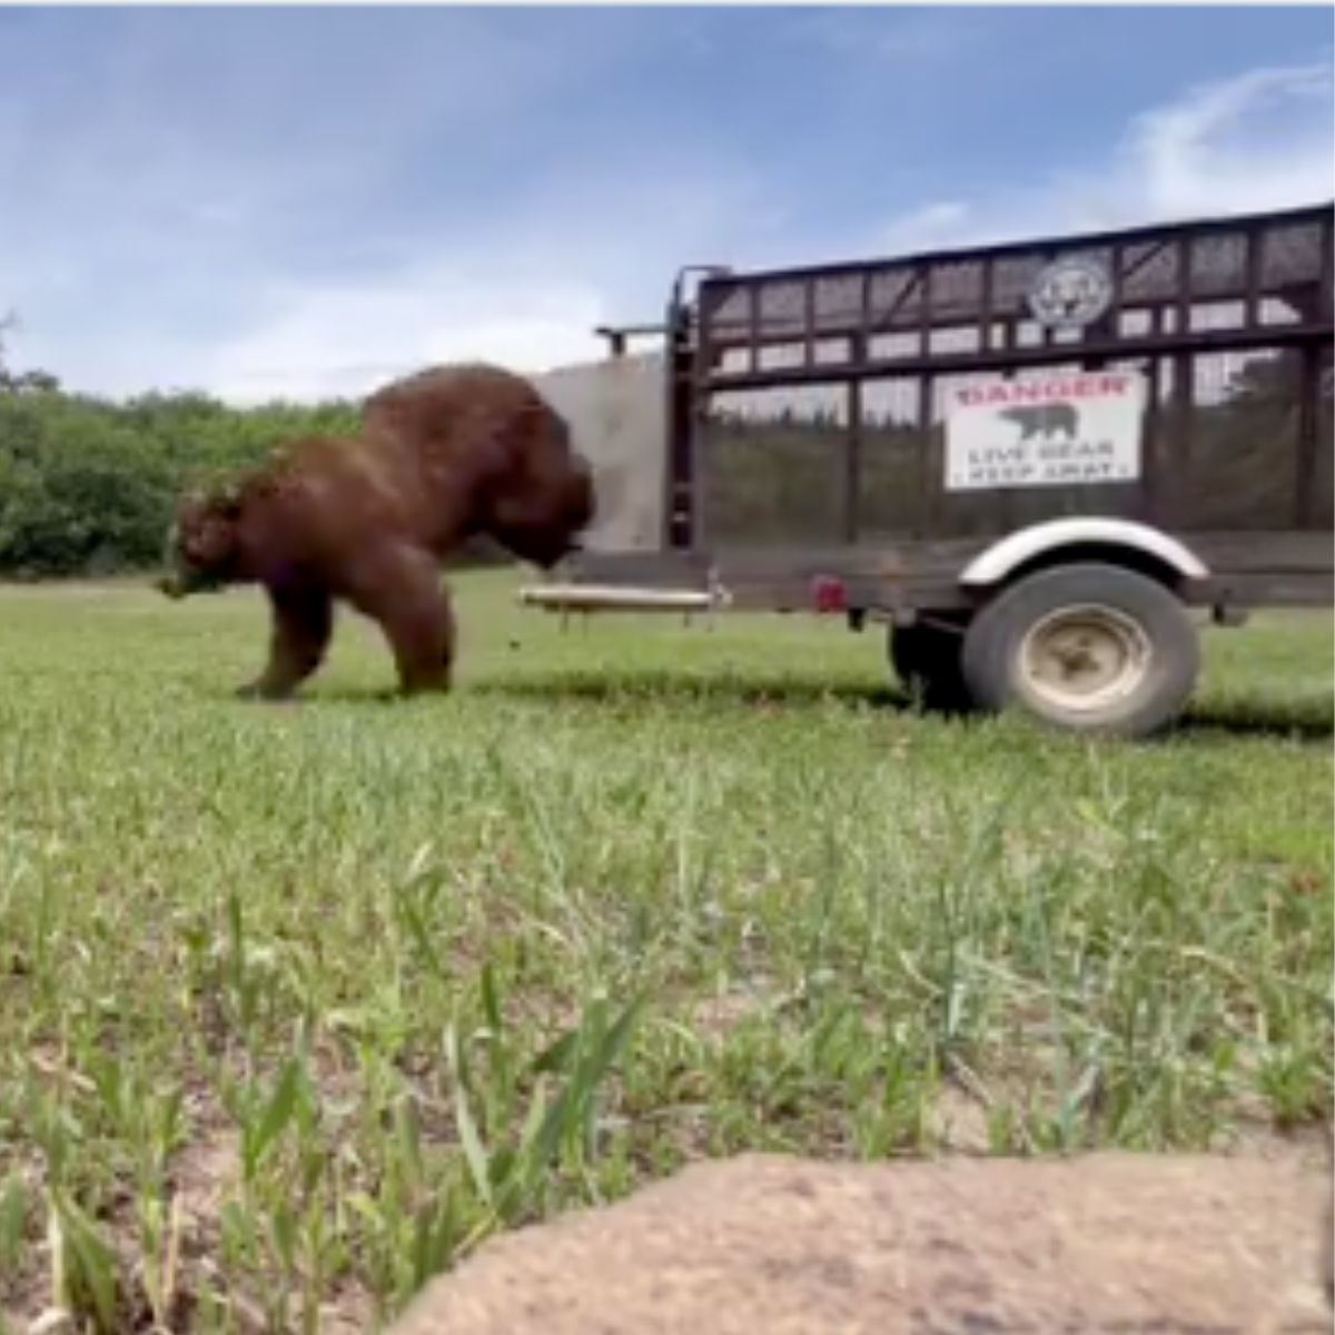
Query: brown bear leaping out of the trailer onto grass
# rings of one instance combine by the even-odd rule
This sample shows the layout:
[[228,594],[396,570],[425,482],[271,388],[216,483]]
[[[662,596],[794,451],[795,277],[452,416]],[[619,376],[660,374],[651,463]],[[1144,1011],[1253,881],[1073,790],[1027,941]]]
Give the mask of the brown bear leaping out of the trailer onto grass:
[[443,558],[489,535],[550,569],[593,515],[587,462],[526,379],[442,366],[371,395],[359,437],[295,441],[236,483],[187,497],[159,587],[264,586],[268,663],[242,694],[291,696],[324,657],[338,599],[380,625],[403,693],[447,690]]

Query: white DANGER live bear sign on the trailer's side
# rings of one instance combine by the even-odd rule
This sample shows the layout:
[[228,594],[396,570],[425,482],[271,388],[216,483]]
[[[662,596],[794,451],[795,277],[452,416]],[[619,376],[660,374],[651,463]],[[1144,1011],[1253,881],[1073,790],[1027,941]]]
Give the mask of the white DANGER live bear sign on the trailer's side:
[[1091,486],[1140,477],[1144,380],[1095,371],[993,380],[947,405],[945,487]]

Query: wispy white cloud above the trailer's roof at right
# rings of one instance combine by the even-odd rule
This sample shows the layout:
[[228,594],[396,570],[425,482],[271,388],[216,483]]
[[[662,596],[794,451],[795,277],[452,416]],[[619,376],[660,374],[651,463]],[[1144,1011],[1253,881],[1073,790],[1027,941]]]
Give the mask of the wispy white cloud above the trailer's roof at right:
[[1252,69],[1136,116],[1100,172],[894,219],[874,248],[909,254],[1104,227],[1318,204],[1335,195],[1326,65]]

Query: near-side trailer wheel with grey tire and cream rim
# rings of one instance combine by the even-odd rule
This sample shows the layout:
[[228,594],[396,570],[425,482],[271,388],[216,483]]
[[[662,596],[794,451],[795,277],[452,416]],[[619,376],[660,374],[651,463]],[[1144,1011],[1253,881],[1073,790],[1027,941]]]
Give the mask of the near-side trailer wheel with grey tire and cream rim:
[[1163,585],[1121,566],[1028,575],[973,618],[961,672],[983,709],[1023,709],[1079,732],[1147,737],[1191,696],[1200,646]]

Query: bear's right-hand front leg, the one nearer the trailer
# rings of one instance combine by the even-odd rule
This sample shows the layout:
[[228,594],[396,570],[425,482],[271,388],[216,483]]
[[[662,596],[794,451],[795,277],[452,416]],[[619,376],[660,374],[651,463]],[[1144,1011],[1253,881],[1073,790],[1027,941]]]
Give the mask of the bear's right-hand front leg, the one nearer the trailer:
[[379,622],[405,696],[446,692],[454,662],[454,613],[431,553],[394,546],[359,563],[348,598]]

